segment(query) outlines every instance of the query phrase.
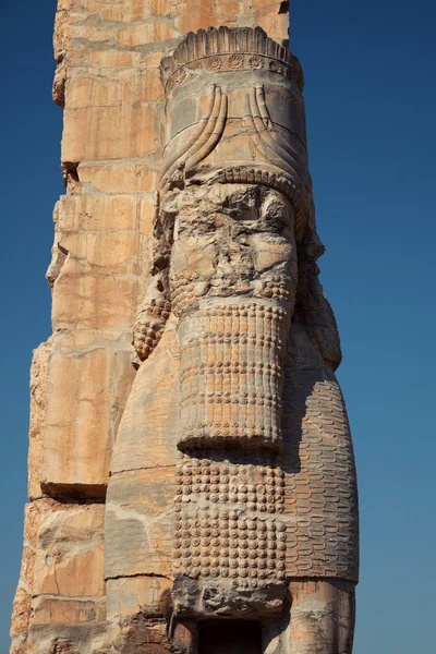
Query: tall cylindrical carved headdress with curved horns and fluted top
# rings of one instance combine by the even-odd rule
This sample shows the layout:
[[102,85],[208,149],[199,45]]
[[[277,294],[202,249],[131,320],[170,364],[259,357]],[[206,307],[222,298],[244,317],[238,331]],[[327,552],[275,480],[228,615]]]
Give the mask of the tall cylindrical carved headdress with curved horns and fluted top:
[[311,221],[303,74],[259,28],[190,33],[161,63],[167,184],[254,183],[286,194],[296,231]]

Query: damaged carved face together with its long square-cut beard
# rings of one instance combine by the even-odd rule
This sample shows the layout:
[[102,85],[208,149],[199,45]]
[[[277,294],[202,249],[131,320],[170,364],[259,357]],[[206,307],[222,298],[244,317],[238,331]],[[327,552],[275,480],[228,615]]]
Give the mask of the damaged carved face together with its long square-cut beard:
[[293,211],[259,185],[181,193],[171,253],[180,448],[281,448],[282,363],[296,291]]

